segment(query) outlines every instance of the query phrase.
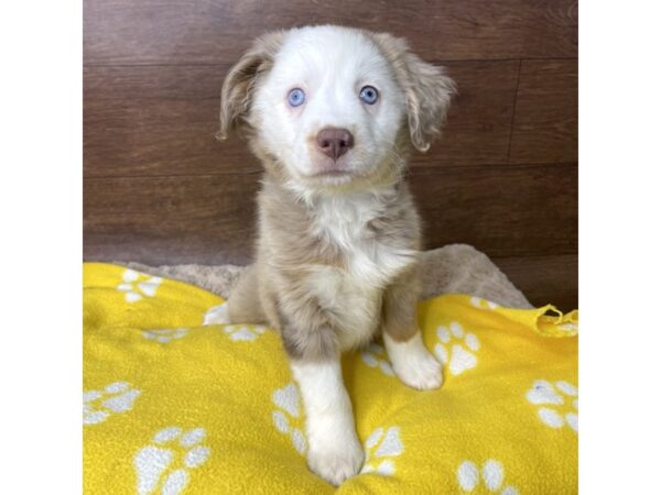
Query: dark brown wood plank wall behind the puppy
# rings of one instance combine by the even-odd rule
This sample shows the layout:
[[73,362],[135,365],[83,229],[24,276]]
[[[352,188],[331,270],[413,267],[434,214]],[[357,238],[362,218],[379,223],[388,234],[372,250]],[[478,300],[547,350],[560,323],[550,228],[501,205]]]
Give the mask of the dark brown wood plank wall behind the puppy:
[[85,0],[86,260],[251,258],[259,163],[214,139],[223,78],[272,29],[409,38],[459,97],[411,164],[426,248],[491,256],[534,304],[577,305],[574,0]]

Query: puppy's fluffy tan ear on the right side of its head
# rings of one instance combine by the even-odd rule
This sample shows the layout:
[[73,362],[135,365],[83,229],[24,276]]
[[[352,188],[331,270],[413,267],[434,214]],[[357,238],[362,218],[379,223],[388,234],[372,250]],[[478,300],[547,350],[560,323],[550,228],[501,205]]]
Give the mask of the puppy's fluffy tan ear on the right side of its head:
[[443,67],[427,64],[411,53],[405,40],[388,33],[373,33],[372,38],[392,65],[407,96],[411,142],[426,152],[441,134],[449,101],[457,94],[456,84]]

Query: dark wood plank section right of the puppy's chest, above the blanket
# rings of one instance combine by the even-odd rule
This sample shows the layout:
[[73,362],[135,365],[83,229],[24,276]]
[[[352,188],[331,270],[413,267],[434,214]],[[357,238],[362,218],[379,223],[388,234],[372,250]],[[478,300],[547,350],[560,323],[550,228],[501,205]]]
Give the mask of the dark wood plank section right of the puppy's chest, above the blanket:
[[575,164],[414,170],[426,248],[465,243],[490,256],[577,250]]

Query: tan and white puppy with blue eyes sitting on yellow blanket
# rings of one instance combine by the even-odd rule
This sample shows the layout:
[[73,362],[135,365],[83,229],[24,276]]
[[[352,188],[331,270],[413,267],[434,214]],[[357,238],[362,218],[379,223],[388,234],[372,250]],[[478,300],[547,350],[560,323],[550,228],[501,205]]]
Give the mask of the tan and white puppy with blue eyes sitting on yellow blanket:
[[256,262],[229,320],[279,331],[303,398],[307,464],[335,485],[364,461],[342,352],[381,331],[404,384],[442,382],[416,327],[421,229],[403,176],[454,92],[403,40],[329,25],[258,38],[223,85],[219,136],[240,131],[266,169]]

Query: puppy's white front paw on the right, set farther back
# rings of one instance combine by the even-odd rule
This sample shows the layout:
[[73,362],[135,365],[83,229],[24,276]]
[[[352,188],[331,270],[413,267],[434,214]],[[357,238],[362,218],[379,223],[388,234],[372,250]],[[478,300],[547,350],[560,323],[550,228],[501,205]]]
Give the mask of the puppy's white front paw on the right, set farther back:
[[420,332],[407,342],[398,342],[383,336],[388,355],[397,376],[419,391],[438,388],[443,383],[441,363],[426,350]]

